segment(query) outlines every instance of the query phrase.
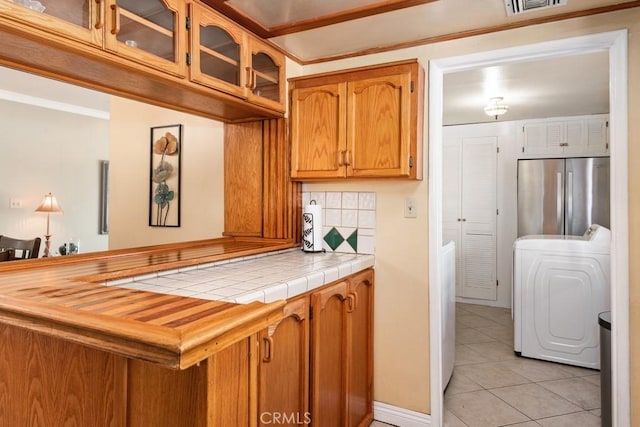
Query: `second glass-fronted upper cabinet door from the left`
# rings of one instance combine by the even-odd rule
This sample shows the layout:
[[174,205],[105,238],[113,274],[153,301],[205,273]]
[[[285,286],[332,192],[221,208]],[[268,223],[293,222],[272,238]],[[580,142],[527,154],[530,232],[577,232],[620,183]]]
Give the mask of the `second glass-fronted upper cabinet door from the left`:
[[108,0],[106,48],[183,76],[185,20],[181,0]]

